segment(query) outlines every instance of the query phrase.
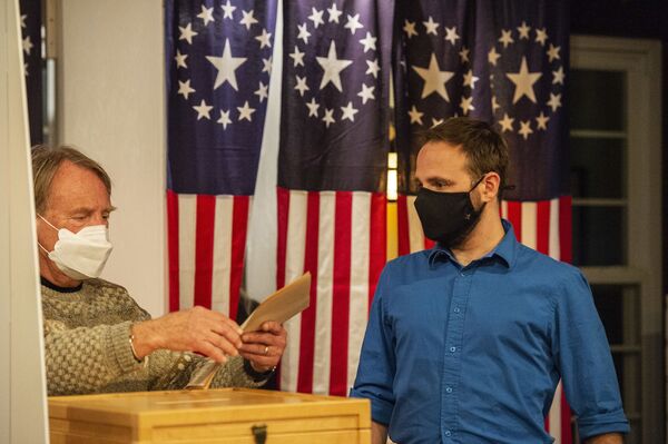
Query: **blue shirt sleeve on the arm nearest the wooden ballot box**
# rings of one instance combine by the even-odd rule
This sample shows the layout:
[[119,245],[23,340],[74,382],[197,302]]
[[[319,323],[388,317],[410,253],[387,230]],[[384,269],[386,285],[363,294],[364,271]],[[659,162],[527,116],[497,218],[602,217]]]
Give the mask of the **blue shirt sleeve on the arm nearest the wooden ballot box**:
[[390,326],[383,314],[383,293],[386,288],[386,269],[381,275],[371,306],[369,324],[360,354],[357,376],[350,395],[371,399],[371,417],[381,424],[390,424],[394,410],[392,385],[395,357]]

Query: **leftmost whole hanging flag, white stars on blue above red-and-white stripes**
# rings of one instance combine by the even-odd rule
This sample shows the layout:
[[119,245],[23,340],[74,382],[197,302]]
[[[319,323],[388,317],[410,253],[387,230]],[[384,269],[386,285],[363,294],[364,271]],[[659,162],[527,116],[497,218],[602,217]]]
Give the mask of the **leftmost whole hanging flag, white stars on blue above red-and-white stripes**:
[[236,317],[276,4],[165,2],[170,310]]

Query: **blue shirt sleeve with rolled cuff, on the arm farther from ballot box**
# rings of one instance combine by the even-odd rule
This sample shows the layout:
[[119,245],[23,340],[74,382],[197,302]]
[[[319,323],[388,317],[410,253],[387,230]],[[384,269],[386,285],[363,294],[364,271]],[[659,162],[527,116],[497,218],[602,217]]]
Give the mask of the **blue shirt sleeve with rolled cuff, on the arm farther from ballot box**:
[[557,299],[552,347],[582,438],[628,433],[606,332],[582,274],[569,269]]

